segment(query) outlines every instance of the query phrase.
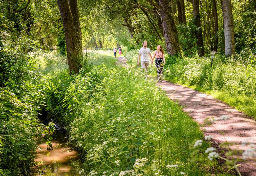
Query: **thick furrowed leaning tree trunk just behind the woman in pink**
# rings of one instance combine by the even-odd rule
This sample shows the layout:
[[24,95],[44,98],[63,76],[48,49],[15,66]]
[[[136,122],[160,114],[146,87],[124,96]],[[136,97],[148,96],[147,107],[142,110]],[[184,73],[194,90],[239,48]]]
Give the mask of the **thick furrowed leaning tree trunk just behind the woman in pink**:
[[182,50],[180,47],[180,41],[178,32],[174,24],[172,17],[172,9],[168,0],[158,0],[159,11],[161,14],[161,20],[164,29],[165,46],[168,54],[174,55],[180,53],[182,57]]

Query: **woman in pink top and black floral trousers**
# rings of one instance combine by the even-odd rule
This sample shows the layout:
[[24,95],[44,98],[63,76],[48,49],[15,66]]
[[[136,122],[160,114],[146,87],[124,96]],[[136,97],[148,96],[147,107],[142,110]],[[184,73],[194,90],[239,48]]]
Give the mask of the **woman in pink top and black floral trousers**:
[[157,46],[157,50],[154,52],[153,59],[156,57],[156,71],[158,81],[163,79],[163,66],[165,64],[164,50],[161,45]]

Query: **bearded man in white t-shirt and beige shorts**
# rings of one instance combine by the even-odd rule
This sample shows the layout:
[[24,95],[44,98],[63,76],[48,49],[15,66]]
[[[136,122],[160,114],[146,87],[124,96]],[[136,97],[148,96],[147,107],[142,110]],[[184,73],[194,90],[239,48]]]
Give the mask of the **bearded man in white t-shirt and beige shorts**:
[[[149,65],[149,57],[151,58],[151,64],[153,63],[153,58],[151,56],[150,49],[147,47],[147,41],[144,41],[142,43],[143,47],[140,48],[139,51],[139,58],[138,58],[138,66],[140,66],[141,63],[141,68],[144,68],[145,71],[148,71],[148,65]],[[141,56],[141,60],[140,60]]]

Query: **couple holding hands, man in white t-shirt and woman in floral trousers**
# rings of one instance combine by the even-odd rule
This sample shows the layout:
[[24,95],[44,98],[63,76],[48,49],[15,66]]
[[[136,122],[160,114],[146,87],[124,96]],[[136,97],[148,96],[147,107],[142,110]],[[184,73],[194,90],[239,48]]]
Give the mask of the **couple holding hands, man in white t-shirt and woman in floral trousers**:
[[[151,59],[151,64],[153,64],[153,60],[156,57],[156,70],[157,70],[157,78],[158,81],[162,81],[163,79],[163,66],[165,64],[165,59],[164,59],[164,50],[161,45],[157,46],[157,50],[154,52],[153,57],[151,56],[150,49],[147,47],[147,41],[144,41],[142,43],[143,47],[140,48],[139,51],[139,58],[138,58],[138,66],[140,66],[141,63],[141,68],[144,68],[145,71],[148,71],[148,65],[149,65],[149,57]],[[140,60],[141,57],[141,60]]]

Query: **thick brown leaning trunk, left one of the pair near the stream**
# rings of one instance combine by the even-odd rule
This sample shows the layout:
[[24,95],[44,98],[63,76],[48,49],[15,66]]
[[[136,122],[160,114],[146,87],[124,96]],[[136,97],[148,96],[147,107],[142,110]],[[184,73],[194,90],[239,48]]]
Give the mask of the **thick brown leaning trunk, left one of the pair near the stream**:
[[72,74],[72,72],[76,74],[79,69],[82,68],[82,63],[80,58],[81,50],[79,49],[80,45],[76,38],[74,20],[69,8],[68,0],[57,0],[57,3],[64,27],[69,74]]

